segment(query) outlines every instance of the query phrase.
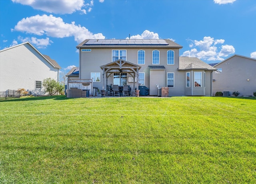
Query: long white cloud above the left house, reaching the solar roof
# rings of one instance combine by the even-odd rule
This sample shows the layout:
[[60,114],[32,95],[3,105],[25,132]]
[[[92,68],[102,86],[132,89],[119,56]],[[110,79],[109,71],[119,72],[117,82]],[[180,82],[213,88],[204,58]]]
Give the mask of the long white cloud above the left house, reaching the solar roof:
[[76,25],[75,22],[65,23],[62,18],[52,15],[36,15],[23,18],[15,25],[12,31],[21,31],[35,35],[47,35],[49,37],[71,37],[78,43],[85,39],[105,39],[102,33],[93,34],[86,27]]

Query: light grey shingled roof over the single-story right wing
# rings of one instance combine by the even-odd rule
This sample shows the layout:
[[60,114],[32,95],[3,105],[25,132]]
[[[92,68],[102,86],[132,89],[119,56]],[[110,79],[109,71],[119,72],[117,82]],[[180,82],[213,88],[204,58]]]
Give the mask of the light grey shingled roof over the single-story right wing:
[[178,70],[216,70],[197,57],[180,57]]

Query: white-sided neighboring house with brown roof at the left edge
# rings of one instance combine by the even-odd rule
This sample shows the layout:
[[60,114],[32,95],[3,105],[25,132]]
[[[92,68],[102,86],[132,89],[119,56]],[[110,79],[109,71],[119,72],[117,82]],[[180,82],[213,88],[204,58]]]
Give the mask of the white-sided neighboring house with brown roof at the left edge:
[[59,81],[60,66],[25,42],[0,51],[0,91],[24,88],[33,95],[45,95],[45,78]]

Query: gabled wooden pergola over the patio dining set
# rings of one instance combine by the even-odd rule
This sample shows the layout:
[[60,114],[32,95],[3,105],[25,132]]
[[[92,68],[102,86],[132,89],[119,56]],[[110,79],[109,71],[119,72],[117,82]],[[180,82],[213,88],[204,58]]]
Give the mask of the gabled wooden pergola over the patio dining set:
[[113,73],[127,73],[127,76],[130,74],[133,78],[133,90],[135,91],[135,81],[137,81],[136,87],[138,89],[138,76],[141,66],[119,59],[106,65],[102,65],[100,68],[103,70],[103,90],[105,90],[104,76],[106,76],[106,85],[108,85],[108,77]]

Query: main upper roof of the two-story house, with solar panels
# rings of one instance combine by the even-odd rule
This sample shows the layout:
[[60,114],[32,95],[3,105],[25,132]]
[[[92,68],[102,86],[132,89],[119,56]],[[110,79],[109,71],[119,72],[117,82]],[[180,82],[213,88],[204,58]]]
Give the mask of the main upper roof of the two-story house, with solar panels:
[[156,47],[178,48],[182,46],[170,39],[86,39],[76,46],[82,48]]

